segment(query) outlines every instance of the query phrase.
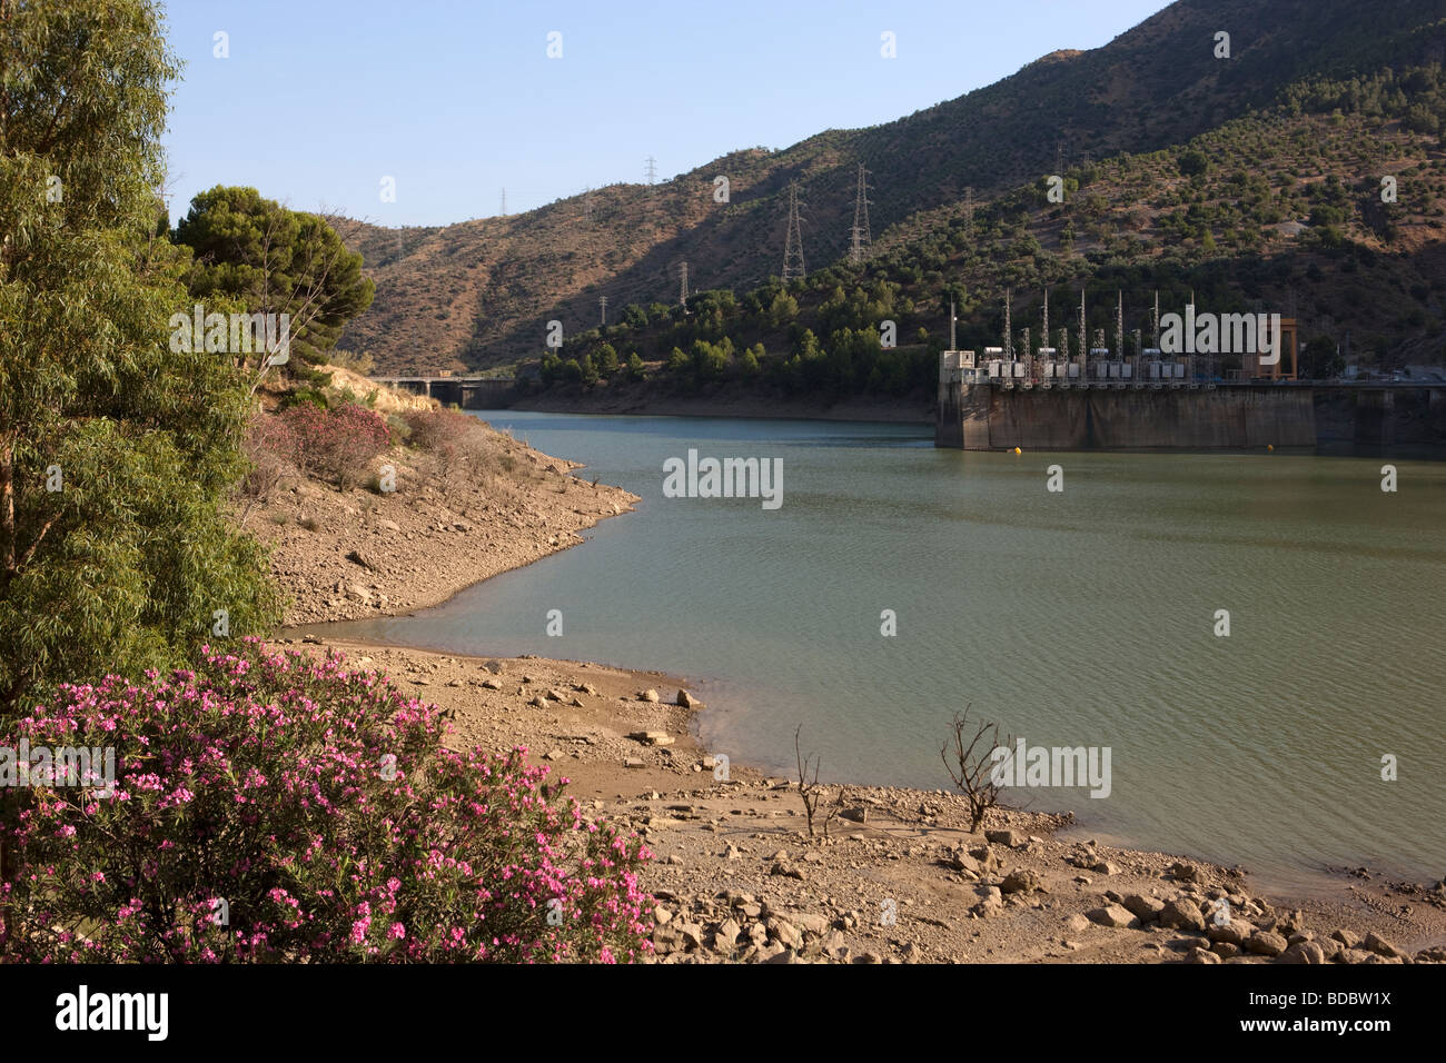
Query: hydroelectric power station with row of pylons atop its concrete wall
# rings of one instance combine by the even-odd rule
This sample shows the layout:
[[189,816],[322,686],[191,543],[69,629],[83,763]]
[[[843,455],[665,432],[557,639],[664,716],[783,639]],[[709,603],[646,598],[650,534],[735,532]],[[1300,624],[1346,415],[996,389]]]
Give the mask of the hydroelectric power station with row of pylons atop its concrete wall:
[[[1005,346],[957,350],[950,308],[950,344],[940,354],[936,447],[959,450],[1220,450],[1314,448],[1322,392],[1353,402],[1355,441],[1390,444],[1395,390],[1391,383],[1297,380],[1296,321],[1280,315],[1167,315],[1155,346],[1125,354],[1124,301],[1118,302],[1115,346],[1096,330],[1086,346],[1080,295],[1076,354],[1070,330],[1048,346],[1048,294],[1043,346],[1030,330],[1014,347],[1005,301]],[[1174,318],[1174,323],[1170,323]],[[1164,341],[1161,341],[1164,337]],[[1196,340],[1200,340],[1197,343]],[[1165,350],[1161,350],[1161,346]],[[1229,369],[1223,369],[1229,366]],[[1223,372],[1222,372],[1223,369]],[[1335,392],[1353,392],[1339,395]],[[1442,389],[1433,386],[1432,409]],[[1404,398],[1404,396],[1403,396]]]

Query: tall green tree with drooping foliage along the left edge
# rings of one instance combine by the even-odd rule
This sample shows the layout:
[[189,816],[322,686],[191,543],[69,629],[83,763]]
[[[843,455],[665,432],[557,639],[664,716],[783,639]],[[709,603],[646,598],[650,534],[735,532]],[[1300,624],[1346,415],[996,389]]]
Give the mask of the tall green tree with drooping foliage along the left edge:
[[168,344],[188,302],[158,195],[176,72],[150,0],[0,4],[0,719],[172,664],[218,610],[231,633],[279,619],[226,515],[246,389]]

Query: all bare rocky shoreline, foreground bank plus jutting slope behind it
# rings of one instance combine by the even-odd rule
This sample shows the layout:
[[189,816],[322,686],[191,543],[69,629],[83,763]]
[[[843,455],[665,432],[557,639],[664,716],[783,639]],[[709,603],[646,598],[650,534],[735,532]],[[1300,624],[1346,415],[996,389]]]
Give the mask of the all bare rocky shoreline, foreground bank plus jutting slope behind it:
[[281,641],[335,648],[435,701],[450,743],[526,746],[589,816],[645,837],[658,962],[1446,962],[1443,882],[1362,871],[1325,897],[1267,897],[1239,869],[1061,837],[1069,816],[995,808],[970,833],[960,795],[894,787],[826,785],[818,819],[833,814],[813,836],[797,780],[724,769],[698,748],[685,678],[314,629],[437,605],[639,500],[496,445],[508,477],[444,490],[408,466],[396,495],[307,480],[260,508],[249,526],[270,532],[295,597]]

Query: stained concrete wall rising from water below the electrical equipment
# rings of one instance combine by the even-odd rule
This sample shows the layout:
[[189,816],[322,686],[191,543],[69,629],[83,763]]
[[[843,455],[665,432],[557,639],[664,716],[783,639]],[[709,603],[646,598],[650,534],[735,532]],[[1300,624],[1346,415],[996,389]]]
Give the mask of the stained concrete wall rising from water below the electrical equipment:
[[962,450],[1314,447],[1310,389],[940,385],[934,443]]

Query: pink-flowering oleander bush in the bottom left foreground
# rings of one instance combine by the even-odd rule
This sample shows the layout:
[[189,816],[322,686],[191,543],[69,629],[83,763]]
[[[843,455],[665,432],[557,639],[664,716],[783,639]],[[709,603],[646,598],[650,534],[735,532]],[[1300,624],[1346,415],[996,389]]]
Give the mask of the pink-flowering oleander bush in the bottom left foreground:
[[205,648],[169,678],[62,687],[0,743],[113,746],[114,790],[12,791],[3,957],[628,962],[651,949],[642,842],[584,821],[525,749],[458,754],[442,733],[435,706],[383,677],[256,639]]

